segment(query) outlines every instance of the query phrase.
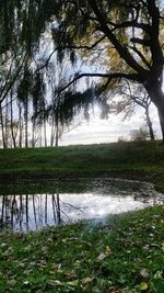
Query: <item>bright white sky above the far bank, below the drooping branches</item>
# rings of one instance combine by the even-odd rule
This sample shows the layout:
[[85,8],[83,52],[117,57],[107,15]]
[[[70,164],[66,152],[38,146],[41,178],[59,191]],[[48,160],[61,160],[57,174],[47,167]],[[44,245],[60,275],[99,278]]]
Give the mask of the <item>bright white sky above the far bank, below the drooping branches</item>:
[[[80,126],[63,134],[59,145],[112,143],[118,142],[119,137],[129,139],[131,129],[138,129],[145,124],[144,111],[141,108],[138,108],[131,119],[122,121],[122,117],[124,114],[110,114],[108,120],[101,120],[98,113],[95,113],[89,122],[83,121]],[[151,109],[151,120],[155,135],[160,138],[159,117],[154,106]]]

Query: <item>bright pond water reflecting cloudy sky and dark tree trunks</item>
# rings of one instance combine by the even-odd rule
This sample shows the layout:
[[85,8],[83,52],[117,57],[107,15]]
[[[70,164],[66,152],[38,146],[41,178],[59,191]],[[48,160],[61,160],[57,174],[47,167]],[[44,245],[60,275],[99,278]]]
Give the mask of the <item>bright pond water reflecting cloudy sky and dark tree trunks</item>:
[[0,230],[35,230],[82,218],[101,218],[149,205],[163,199],[137,195],[24,194],[0,196]]

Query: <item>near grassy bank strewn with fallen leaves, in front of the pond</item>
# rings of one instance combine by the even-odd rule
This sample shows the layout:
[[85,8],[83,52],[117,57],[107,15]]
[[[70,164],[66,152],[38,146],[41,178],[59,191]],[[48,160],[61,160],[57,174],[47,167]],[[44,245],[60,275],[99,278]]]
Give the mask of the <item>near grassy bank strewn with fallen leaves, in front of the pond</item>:
[[164,207],[0,235],[0,292],[164,292]]

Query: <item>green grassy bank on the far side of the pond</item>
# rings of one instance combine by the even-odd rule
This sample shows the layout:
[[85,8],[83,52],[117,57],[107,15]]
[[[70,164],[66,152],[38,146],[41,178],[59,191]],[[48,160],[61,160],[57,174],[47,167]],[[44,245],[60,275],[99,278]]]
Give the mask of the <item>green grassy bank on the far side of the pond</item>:
[[0,181],[122,177],[155,183],[164,191],[161,142],[0,150]]

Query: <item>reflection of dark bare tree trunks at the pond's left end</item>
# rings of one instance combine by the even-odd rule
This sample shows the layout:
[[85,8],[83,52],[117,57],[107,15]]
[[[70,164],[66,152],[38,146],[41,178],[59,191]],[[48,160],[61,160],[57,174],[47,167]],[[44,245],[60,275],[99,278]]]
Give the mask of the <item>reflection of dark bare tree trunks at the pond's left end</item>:
[[[51,199],[51,201],[50,201]],[[50,204],[51,203],[51,204]],[[52,214],[52,218],[48,214]],[[28,230],[62,223],[59,194],[24,194],[0,196],[0,232]]]

